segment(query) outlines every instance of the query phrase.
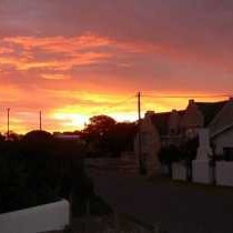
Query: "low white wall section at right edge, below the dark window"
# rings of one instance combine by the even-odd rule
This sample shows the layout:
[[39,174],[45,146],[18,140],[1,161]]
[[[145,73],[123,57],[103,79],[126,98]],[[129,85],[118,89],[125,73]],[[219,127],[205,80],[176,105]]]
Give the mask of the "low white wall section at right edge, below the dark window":
[[216,184],[233,186],[233,162],[216,162]]

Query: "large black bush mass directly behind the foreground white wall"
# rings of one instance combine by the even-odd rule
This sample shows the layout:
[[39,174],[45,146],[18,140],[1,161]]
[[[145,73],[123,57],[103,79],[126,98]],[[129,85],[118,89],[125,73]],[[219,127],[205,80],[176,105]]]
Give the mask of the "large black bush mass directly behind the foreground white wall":
[[0,140],[0,212],[44,204],[73,193],[90,197],[91,182],[83,170],[82,148],[75,141],[32,131],[20,141]]

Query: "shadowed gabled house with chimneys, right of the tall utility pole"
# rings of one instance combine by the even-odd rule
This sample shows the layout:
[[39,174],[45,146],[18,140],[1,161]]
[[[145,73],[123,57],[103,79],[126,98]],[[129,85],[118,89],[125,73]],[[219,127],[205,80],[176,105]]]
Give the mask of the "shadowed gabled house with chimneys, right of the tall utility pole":
[[[146,164],[153,172],[160,172],[158,159],[162,145],[179,144],[183,139],[192,139],[201,133],[200,153],[212,153],[211,144],[215,144],[215,152],[225,159],[233,156],[233,99],[220,102],[195,102],[190,100],[184,111],[154,113],[149,111],[140,124],[141,151]],[[139,155],[139,136],[135,138],[134,152]],[[194,164],[194,170],[196,164]],[[203,165],[203,163],[202,163]],[[201,166],[200,164],[197,166]],[[203,168],[209,166],[205,164]]]

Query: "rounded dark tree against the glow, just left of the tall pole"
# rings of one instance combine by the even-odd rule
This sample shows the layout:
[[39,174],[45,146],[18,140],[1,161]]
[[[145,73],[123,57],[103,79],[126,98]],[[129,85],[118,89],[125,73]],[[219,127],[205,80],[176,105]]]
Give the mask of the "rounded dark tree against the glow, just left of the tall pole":
[[89,155],[119,156],[122,151],[132,150],[135,132],[135,123],[116,123],[108,115],[94,115],[82,131],[82,139]]

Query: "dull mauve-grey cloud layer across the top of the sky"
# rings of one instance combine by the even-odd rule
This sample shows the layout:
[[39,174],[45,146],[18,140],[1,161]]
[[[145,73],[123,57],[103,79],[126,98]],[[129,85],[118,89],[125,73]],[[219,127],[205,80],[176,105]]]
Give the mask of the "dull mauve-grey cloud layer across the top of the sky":
[[229,59],[233,48],[231,0],[8,0],[0,4],[2,37],[91,32],[130,42],[162,42],[222,59]]

